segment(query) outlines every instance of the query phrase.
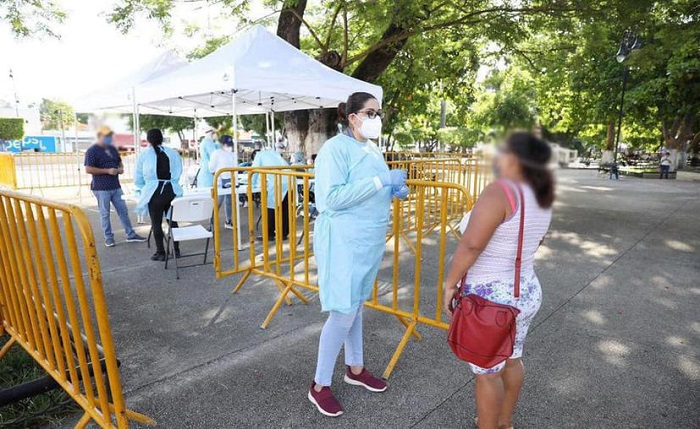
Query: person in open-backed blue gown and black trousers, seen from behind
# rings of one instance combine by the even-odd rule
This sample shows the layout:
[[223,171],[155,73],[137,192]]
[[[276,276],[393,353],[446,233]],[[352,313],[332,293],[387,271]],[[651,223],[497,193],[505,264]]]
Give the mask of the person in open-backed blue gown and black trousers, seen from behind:
[[[146,140],[150,147],[145,149],[136,163],[134,185],[140,194],[136,204],[136,212],[151,218],[153,238],[156,253],[152,261],[165,261],[165,246],[163,245],[163,216],[170,210],[170,203],[175,197],[182,196],[180,176],[182,175],[182,159],[174,149],[163,146],[163,133],[157,129],[148,130]],[[173,222],[177,228],[177,222]],[[180,257],[180,246],[174,243],[175,257]]]

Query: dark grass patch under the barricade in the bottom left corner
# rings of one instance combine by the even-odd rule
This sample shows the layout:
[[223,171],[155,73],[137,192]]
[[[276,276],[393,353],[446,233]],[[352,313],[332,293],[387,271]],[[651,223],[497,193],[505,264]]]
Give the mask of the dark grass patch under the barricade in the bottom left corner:
[[[9,337],[0,338],[0,347]],[[0,359],[0,388],[9,388],[46,376],[46,371],[24,349],[15,344]],[[55,425],[80,407],[58,388],[0,408],[0,429],[34,429]]]

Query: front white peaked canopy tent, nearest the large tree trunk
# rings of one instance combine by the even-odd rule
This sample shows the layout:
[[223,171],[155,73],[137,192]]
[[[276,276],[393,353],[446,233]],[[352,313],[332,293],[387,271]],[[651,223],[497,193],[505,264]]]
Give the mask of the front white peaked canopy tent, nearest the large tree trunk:
[[[358,91],[381,102],[380,86],[321,64],[260,25],[206,57],[137,87],[139,108],[177,116],[234,118],[336,107]],[[237,156],[238,121],[233,124]],[[274,122],[272,128],[274,135]],[[240,248],[240,219],[237,227]]]

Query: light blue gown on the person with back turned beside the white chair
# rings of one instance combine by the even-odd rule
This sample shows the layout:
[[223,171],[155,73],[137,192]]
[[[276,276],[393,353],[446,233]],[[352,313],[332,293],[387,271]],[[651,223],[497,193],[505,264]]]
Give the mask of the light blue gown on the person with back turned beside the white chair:
[[[146,216],[148,214],[148,202],[151,201],[153,193],[158,189],[158,179],[156,173],[156,150],[152,147],[144,149],[136,161],[134,170],[134,185],[140,193],[138,203],[136,203],[136,213]],[[182,175],[182,159],[180,154],[167,146],[160,146],[160,150],[168,155],[170,161],[170,183],[173,185],[173,192],[178,197],[182,196],[182,186],[180,186],[180,176]]]

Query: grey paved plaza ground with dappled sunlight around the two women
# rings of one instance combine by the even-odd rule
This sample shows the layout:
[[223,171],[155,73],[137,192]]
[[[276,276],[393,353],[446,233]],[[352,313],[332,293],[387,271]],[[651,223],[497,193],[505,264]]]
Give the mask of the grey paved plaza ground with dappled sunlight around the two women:
[[[562,171],[558,190],[516,427],[700,427],[700,186]],[[384,394],[343,384],[339,365],[346,414],[331,420],[306,399],[317,302],[285,307],[261,330],[269,284],[233,296],[235,279],[215,280],[211,266],[176,281],[140,246],[100,246],[100,256],[129,406],[158,427],[472,427],[473,379],[443,331],[421,329]],[[402,330],[365,315],[366,362],[381,373]]]

